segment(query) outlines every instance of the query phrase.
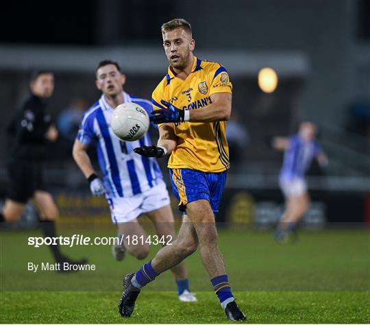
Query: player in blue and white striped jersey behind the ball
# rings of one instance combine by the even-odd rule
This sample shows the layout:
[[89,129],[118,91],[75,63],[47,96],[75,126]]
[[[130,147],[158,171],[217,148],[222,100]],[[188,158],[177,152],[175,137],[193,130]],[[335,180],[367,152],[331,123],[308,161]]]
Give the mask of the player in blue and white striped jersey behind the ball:
[[[153,221],[159,237],[170,235],[175,238],[169,193],[156,160],[134,154],[134,147],[151,145],[149,134],[145,134],[138,141],[120,141],[110,129],[109,121],[114,108],[119,104],[132,101],[148,111],[152,110],[152,106],[150,101],[123,91],[125,75],[121,73],[116,62],[100,62],[96,77],[96,86],[103,94],[84,115],[73,146],[73,158],[90,183],[93,195],[106,194],[112,221],[118,226],[120,241],[124,242],[124,245],[116,245],[113,248],[116,259],[121,261],[125,250],[136,258],[143,259],[149,253],[149,244],[140,242],[137,245],[128,245],[127,236],[147,237],[137,219],[146,213]],[[92,141],[97,142],[103,182],[97,177],[86,152]],[[196,301],[188,287],[184,263],[176,265],[172,271],[179,299],[185,302]]]

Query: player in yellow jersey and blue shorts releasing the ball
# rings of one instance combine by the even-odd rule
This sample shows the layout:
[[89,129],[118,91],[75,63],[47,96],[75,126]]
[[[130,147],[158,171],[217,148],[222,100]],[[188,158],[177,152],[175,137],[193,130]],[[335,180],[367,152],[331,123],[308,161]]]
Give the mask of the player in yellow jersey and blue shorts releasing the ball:
[[141,146],[135,151],[157,158],[171,154],[171,182],[184,217],[173,245],[162,248],[135,274],[125,276],[119,312],[130,317],[140,288],[199,245],[201,260],[228,319],[245,320],[232,295],[214,221],[230,167],[225,121],[231,114],[232,85],[221,64],[195,58],[195,40],[184,19],[164,23],[162,36],[170,67],[153,92],[157,110],[151,117],[160,124],[160,139],[158,146]]

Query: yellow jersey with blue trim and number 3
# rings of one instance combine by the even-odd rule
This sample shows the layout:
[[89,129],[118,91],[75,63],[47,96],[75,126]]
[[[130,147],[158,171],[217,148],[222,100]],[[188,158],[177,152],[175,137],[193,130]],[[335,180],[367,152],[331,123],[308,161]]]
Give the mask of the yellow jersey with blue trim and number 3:
[[[191,73],[182,80],[169,68],[167,75],[153,91],[154,109],[166,108],[161,100],[169,101],[182,110],[199,110],[212,104],[210,95],[232,93],[232,84],[225,67],[217,62],[194,58]],[[169,158],[171,169],[189,168],[219,173],[230,168],[226,123],[173,123],[177,147]]]

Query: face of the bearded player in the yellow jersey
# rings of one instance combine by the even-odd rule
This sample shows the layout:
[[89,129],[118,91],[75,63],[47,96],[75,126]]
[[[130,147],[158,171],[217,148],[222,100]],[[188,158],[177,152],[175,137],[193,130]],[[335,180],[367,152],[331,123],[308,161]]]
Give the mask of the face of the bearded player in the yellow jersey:
[[184,70],[190,62],[190,54],[194,50],[195,40],[180,27],[164,33],[162,36],[163,47],[169,64],[174,69]]

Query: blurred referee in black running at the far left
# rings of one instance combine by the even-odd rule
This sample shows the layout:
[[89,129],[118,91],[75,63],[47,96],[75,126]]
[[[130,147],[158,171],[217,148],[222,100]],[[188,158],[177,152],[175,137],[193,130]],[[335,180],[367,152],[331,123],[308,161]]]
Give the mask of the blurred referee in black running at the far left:
[[[46,190],[42,179],[42,162],[45,160],[47,141],[56,141],[58,131],[47,113],[47,99],[53,95],[54,76],[50,71],[36,71],[29,84],[30,96],[18,110],[8,133],[12,139],[8,173],[10,185],[8,199],[0,210],[0,222],[17,221],[32,199],[40,215],[40,228],[45,237],[57,237],[56,203]],[[49,245],[57,263],[85,264],[86,260],[72,261],[60,252],[58,245]]]

